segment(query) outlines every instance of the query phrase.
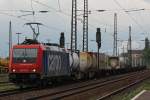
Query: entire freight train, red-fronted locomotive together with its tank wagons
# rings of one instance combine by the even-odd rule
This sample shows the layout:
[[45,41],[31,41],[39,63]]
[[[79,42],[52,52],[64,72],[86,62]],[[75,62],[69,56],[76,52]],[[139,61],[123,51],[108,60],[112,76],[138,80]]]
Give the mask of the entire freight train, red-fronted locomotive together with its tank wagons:
[[104,74],[125,73],[144,68],[115,68],[107,66],[105,60],[108,57],[105,55],[71,52],[56,44],[27,41],[26,39],[26,42],[13,46],[11,51],[9,79],[17,85],[47,84],[60,78],[90,79],[102,77]]

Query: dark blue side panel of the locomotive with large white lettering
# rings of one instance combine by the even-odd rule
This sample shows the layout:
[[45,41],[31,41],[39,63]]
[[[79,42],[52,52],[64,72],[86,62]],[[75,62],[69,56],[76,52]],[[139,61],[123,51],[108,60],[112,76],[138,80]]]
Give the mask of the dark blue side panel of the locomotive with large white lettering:
[[44,75],[48,77],[70,76],[69,54],[57,51],[44,51]]

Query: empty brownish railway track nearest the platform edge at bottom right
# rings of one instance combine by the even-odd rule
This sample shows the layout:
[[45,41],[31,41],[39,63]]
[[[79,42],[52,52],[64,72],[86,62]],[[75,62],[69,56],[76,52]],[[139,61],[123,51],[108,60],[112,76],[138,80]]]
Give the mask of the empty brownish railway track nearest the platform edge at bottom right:
[[81,99],[82,100],[85,98],[89,99],[90,97],[94,97],[94,95],[96,94],[96,91],[99,91],[98,93],[100,95],[96,99],[101,100],[101,99],[107,98],[108,96],[118,91],[121,91],[122,89],[125,89],[134,84],[137,84],[140,81],[150,77],[149,72],[150,71],[143,71],[140,73],[137,72],[134,74],[128,74],[124,77],[106,81],[106,82],[101,82],[101,83],[95,82],[93,84],[83,85],[83,86],[80,85],[79,87],[72,87],[72,88],[61,90],[55,93],[50,93],[50,94],[30,98],[28,100],[33,100],[33,99],[36,99],[36,100],[37,99],[44,99],[44,100],[47,100],[47,99],[52,99],[52,100]]

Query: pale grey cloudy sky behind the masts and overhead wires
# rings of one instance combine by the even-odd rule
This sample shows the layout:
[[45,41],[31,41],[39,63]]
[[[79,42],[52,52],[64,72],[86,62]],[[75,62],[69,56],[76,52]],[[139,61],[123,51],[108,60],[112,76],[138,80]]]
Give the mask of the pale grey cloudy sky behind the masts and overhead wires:
[[[70,42],[70,23],[71,23],[71,1],[72,0],[0,0],[0,56],[8,55],[8,24],[12,21],[13,27],[13,44],[17,43],[15,33],[21,32],[21,41],[25,37],[31,38],[32,31],[24,24],[33,21],[32,16],[18,18],[20,15],[30,14],[20,12],[20,10],[48,10],[49,13],[35,13],[35,20],[43,23],[41,27],[40,41],[58,43],[60,32],[65,32],[66,42]],[[125,13],[125,9],[141,9],[144,11],[135,11]],[[78,0],[78,9],[83,9],[83,0]],[[105,9],[105,12],[96,12],[95,10]],[[118,38],[120,40],[128,39],[128,26],[132,26],[132,38],[134,49],[142,49],[143,40],[149,36],[150,30],[150,0],[89,0],[89,40],[95,39],[96,28],[102,28],[102,52],[112,52],[113,43],[113,16],[118,13]],[[78,12],[82,14],[82,12]],[[78,16],[82,19],[82,16]],[[106,32],[105,32],[106,30]],[[82,47],[82,23],[78,21],[78,48]],[[119,43],[122,48],[126,42]],[[96,51],[96,43],[89,41],[90,51]]]

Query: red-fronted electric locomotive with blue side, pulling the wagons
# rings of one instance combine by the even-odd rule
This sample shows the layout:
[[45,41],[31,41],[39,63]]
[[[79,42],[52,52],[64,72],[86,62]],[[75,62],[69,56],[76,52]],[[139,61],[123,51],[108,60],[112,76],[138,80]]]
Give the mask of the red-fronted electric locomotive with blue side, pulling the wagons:
[[69,54],[59,46],[20,44],[12,49],[9,79],[18,85],[48,83],[56,77],[70,76]]

